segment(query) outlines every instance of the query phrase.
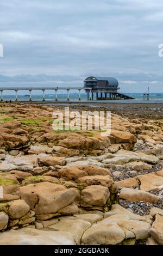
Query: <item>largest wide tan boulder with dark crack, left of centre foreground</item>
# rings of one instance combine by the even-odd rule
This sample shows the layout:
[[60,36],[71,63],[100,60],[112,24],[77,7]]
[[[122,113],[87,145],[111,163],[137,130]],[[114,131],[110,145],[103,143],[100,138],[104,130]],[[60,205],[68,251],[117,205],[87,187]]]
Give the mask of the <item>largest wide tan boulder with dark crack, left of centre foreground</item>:
[[51,182],[19,187],[15,194],[25,200],[36,215],[53,214],[70,205],[77,197],[74,188],[67,189]]

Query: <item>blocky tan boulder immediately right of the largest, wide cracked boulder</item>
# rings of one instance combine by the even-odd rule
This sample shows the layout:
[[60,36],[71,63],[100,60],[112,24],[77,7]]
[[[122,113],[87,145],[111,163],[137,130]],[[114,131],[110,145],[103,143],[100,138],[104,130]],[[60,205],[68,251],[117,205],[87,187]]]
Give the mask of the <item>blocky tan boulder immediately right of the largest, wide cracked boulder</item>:
[[91,207],[92,205],[105,205],[110,192],[107,187],[101,185],[92,185],[81,191],[80,205],[83,207]]

